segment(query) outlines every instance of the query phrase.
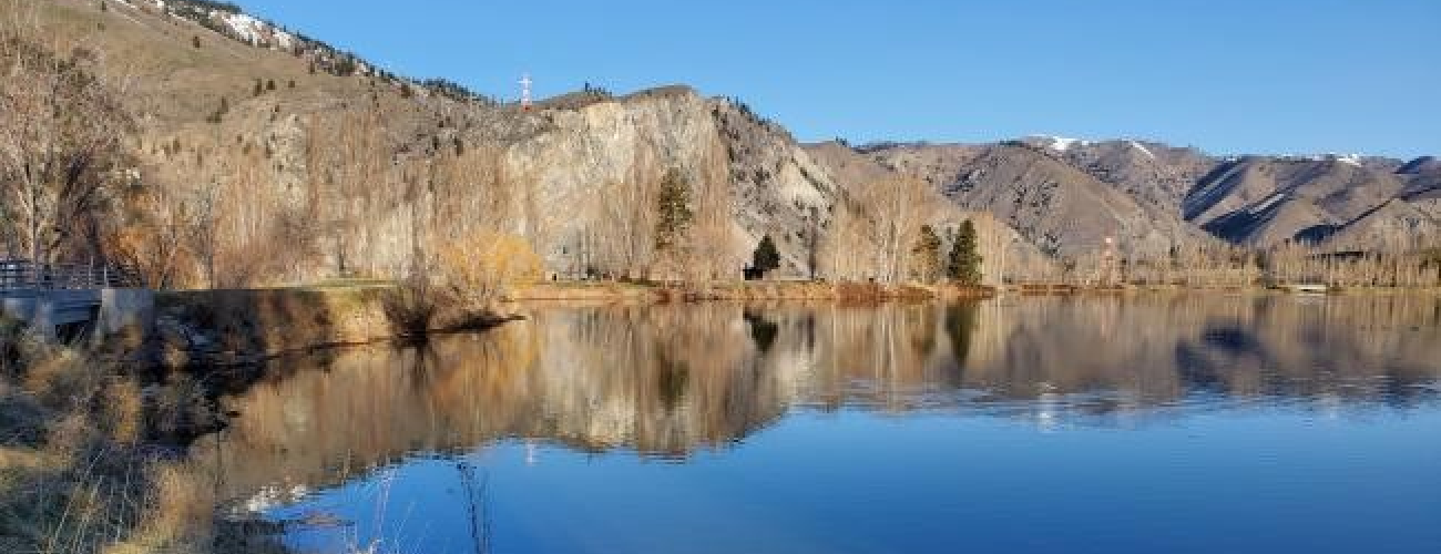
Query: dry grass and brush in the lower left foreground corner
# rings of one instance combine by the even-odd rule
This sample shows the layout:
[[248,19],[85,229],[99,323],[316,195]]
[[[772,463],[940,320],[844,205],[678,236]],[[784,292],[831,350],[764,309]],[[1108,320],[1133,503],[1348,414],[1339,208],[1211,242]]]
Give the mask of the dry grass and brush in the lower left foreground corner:
[[213,422],[203,389],[171,378],[143,393],[82,350],[0,338],[0,551],[208,551],[210,488],[154,448]]

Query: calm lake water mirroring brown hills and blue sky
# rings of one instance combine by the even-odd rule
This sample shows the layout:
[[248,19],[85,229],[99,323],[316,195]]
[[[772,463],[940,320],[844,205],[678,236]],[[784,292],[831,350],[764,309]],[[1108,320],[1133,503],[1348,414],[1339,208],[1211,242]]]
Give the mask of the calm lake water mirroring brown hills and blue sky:
[[1441,551],[1437,296],[543,308],[229,401],[304,551]]

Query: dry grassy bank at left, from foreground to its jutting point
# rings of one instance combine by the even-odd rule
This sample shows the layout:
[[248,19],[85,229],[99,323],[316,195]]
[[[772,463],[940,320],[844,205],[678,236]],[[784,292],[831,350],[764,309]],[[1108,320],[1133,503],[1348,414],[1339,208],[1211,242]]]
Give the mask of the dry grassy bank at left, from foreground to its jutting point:
[[153,330],[55,344],[0,321],[0,553],[282,551],[223,518],[190,442],[218,397],[291,351],[477,330],[507,318],[442,294],[359,285],[161,292]]

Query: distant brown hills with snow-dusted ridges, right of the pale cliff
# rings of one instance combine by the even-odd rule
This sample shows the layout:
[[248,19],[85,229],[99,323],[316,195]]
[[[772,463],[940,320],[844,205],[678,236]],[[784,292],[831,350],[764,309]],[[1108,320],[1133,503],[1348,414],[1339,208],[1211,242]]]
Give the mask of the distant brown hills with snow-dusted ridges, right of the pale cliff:
[[[1441,163],[1383,157],[1216,158],[1156,141],[1035,135],[1001,144],[886,142],[855,148],[927,180],[960,207],[1000,216],[1061,258],[1107,236],[1128,256],[1228,243],[1356,249],[1386,232],[1425,233],[1441,213]],[[1395,200],[1393,206],[1388,206]],[[1344,235],[1333,235],[1344,230]]]

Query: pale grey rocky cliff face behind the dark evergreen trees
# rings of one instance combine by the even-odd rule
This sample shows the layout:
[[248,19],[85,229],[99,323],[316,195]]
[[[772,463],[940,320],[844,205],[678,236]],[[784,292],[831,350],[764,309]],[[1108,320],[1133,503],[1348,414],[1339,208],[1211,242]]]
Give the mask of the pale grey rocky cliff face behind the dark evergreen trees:
[[725,245],[716,265],[726,275],[739,275],[765,235],[777,240],[782,271],[808,272],[806,237],[824,226],[836,186],[782,128],[684,86],[539,117],[549,124],[543,131],[503,144],[501,171],[535,187],[526,201],[540,209],[513,210],[533,217],[520,230],[545,245],[552,269],[584,273],[598,242],[621,239],[597,235],[608,229],[608,212],[653,201],[634,187],[679,173],[693,201],[706,194],[725,200],[723,232],[710,240]]

